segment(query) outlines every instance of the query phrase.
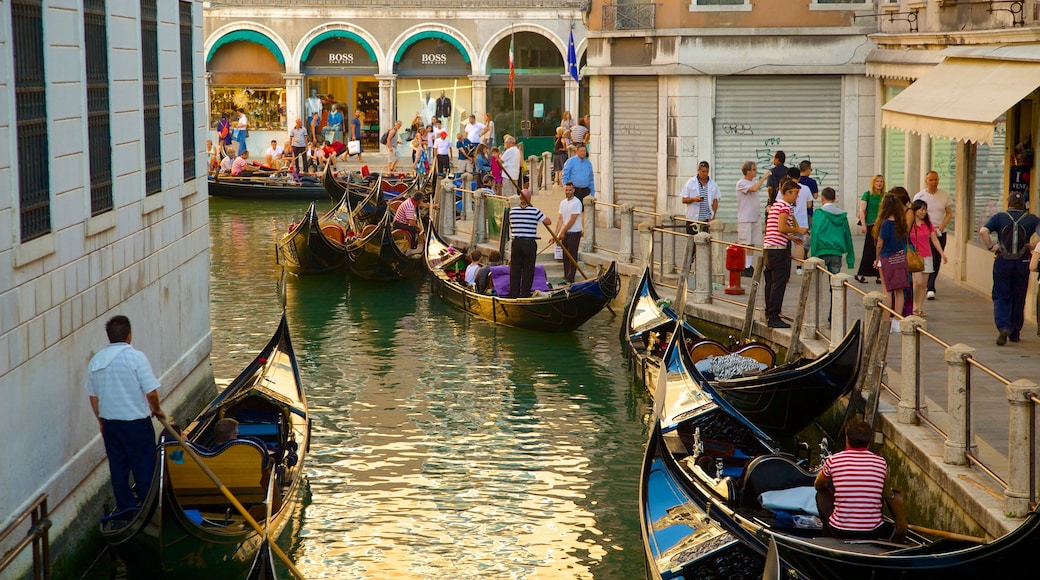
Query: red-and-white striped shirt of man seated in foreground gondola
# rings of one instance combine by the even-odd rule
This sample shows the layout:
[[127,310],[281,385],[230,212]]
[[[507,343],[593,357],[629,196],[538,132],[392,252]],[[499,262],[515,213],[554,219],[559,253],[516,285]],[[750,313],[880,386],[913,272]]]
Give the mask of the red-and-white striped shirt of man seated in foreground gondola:
[[846,531],[869,531],[881,525],[881,494],[888,465],[866,449],[846,449],[824,459],[824,475],[834,482],[830,525]]

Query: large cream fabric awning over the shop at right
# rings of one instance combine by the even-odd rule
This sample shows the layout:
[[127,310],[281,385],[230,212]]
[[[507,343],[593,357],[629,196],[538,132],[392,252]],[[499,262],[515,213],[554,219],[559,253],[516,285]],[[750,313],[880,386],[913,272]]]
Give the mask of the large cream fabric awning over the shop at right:
[[885,127],[991,143],[993,124],[1040,87],[1040,61],[946,58],[881,107]]

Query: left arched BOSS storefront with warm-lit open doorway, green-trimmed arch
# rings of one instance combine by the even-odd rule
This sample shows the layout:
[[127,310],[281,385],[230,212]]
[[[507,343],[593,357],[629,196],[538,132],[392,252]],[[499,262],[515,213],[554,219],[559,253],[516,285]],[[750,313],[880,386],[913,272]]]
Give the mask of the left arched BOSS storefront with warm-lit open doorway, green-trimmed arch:
[[[324,121],[336,104],[342,106],[344,124],[349,127],[354,111],[362,117],[362,144],[366,150],[379,149],[380,85],[375,79],[379,62],[371,47],[359,35],[347,30],[329,30],[316,36],[301,55],[304,74],[304,116],[309,116],[316,97],[320,101],[320,120]],[[346,137],[343,137],[344,140]]]

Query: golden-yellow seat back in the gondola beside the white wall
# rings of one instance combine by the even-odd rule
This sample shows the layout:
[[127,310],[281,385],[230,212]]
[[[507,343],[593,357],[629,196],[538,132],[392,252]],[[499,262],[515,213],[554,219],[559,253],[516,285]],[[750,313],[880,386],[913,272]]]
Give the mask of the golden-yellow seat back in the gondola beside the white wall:
[[[267,450],[250,440],[234,440],[209,452],[192,449],[225,487],[243,505],[264,501]],[[165,444],[166,473],[172,491],[182,507],[225,505],[228,499],[187,453],[180,442]]]

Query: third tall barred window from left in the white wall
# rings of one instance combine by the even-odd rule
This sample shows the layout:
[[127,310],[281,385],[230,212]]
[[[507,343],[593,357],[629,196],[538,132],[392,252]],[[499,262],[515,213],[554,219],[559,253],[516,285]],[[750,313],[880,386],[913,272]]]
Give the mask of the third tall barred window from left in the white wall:
[[159,37],[156,0],[140,0],[141,108],[145,113],[145,194],[162,190],[159,134]]

